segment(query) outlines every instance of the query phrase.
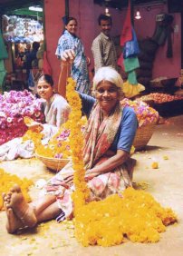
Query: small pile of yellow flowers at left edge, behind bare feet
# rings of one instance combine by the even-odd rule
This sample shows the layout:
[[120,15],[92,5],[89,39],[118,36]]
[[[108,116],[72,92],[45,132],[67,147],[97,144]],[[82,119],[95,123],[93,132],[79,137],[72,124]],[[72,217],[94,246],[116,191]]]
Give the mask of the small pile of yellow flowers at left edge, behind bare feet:
[[[26,202],[31,202],[28,190],[29,187],[33,185],[33,182],[26,178],[20,179],[18,176],[11,173],[7,173],[0,168],[0,194],[2,194],[3,192],[9,192],[9,190],[14,186],[14,184],[18,184],[21,187]],[[3,199],[2,196],[0,196],[0,210],[2,209]]]

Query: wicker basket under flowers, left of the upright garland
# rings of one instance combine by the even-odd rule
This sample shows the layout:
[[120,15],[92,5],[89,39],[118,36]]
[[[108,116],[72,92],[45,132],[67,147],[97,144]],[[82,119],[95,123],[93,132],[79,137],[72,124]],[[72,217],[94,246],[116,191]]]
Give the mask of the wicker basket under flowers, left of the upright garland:
[[45,164],[47,168],[51,169],[53,172],[59,172],[70,161],[69,159],[45,157],[38,153],[35,153],[35,155]]

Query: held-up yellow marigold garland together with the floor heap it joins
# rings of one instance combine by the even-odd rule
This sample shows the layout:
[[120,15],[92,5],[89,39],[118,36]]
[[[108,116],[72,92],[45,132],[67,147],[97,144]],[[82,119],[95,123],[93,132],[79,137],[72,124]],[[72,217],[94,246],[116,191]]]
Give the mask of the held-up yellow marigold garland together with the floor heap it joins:
[[74,169],[75,237],[83,246],[111,246],[120,244],[124,238],[130,241],[156,242],[165,226],[177,221],[171,209],[165,209],[148,192],[128,188],[119,196],[113,194],[100,202],[88,202],[89,189],[84,181],[82,161],[81,99],[74,91],[75,83],[70,78],[67,85],[67,100],[72,107],[69,117],[70,146]]

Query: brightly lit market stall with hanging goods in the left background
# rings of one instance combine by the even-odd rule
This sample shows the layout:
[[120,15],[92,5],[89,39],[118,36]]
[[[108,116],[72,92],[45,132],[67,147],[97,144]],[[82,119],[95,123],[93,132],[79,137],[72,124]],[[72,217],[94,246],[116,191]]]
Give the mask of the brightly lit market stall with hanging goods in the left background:
[[[43,42],[43,15],[38,13],[36,16],[32,13],[24,15],[21,10],[2,16],[3,38],[8,52],[8,58],[5,60],[7,75],[3,91],[28,88],[26,56],[32,51],[34,42],[41,44]],[[38,64],[35,63],[34,66],[38,69]]]

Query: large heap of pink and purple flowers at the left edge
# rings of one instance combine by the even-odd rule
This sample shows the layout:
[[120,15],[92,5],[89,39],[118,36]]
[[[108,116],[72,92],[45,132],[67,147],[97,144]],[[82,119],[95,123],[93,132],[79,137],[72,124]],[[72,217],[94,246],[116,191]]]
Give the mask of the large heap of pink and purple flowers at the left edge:
[[27,131],[24,116],[43,122],[41,103],[26,90],[0,94],[0,145],[24,135]]

